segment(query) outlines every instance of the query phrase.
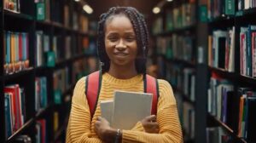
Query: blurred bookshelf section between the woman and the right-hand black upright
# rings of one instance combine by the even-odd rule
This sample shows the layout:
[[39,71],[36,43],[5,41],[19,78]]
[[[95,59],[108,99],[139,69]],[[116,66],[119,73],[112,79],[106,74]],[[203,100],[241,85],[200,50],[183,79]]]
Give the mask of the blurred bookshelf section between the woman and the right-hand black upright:
[[195,142],[196,6],[194,0],[168,2],[155,15],[152,28],[159,77],[172,84],[187,143]]

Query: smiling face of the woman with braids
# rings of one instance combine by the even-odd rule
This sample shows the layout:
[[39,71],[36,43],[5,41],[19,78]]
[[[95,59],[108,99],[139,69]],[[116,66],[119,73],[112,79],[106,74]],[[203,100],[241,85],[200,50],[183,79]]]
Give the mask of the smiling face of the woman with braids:
[[136,35],[131,21],[125,15],[116,15],[107,20],[105,48],[110,63],[117,66],[132,66],[137,57]]

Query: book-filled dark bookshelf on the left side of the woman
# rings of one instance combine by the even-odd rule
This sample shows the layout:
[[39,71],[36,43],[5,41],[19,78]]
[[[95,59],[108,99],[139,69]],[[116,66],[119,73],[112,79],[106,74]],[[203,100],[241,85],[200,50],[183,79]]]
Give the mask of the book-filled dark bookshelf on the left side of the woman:
[[98,67],[96,22],[73,0],[6,3],[0,3],[0,142],[23,134],[32,142],[64,142],[74,85]]

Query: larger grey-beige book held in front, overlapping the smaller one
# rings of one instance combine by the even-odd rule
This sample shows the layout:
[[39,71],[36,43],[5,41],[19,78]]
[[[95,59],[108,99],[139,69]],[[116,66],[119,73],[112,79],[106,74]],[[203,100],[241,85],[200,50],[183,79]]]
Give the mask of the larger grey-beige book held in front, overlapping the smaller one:
[[138,121],[151,114],[152,94],[115,91],[112,127],[132,129]]

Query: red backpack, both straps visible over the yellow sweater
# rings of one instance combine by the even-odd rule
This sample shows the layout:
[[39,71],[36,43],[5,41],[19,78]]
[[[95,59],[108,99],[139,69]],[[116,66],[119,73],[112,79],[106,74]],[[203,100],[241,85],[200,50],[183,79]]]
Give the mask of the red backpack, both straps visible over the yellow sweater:
[[[156,115],[157,112],[157,102],[159,98],[159,87],[158,81],[154,77],[147,75],[143,76],[144,82],[144,93],[153,94],[151,114]],[[100,90],[102,87],[102,72],[93,72],[86,77],[85,81],[85,95],[87,102],[90,107],[90,117],[93,117],[96,111],[96,103],[98,102]]]

